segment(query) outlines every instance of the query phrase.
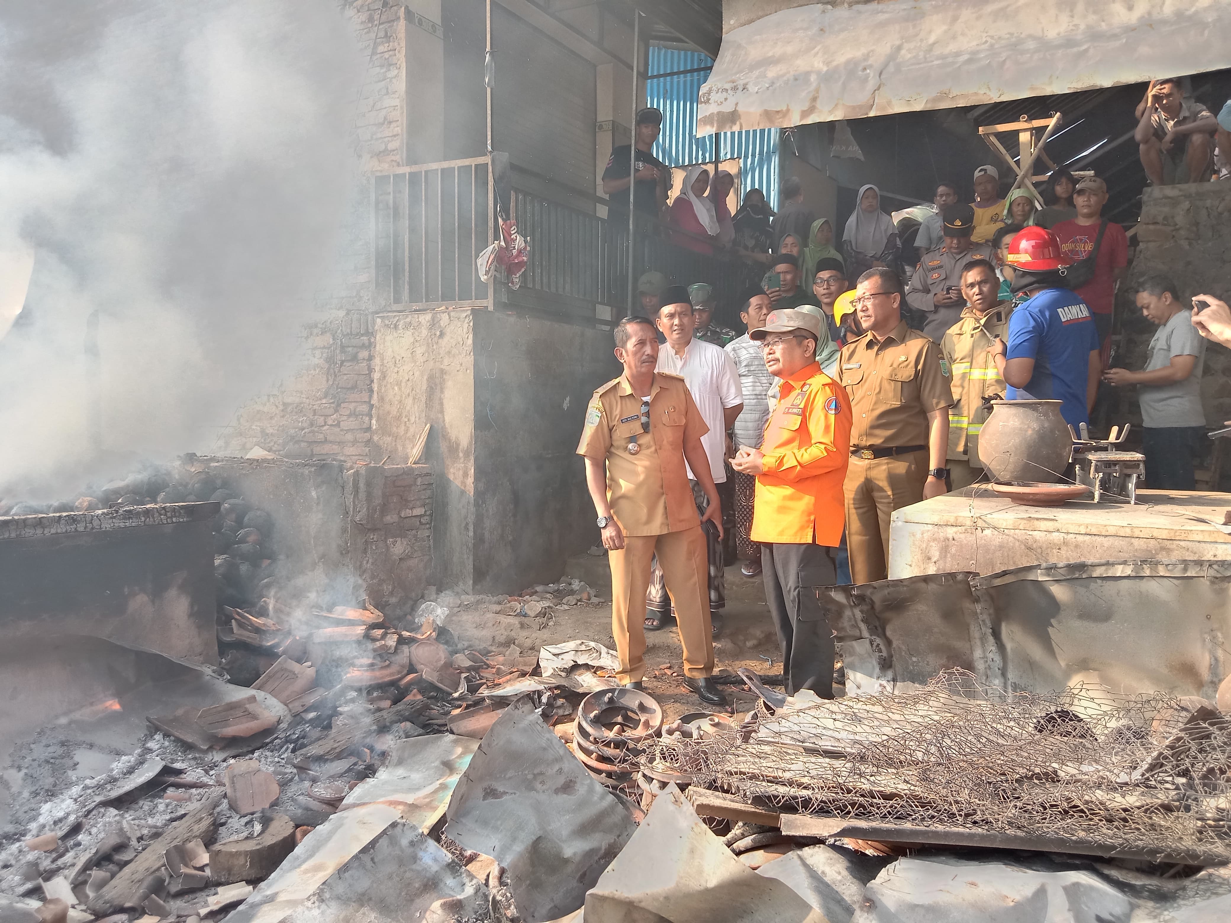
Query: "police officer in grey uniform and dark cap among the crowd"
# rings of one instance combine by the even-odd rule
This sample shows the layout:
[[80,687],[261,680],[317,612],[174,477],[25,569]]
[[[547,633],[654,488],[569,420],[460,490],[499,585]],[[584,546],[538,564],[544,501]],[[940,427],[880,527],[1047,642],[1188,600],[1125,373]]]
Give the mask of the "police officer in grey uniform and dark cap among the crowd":
[[[991,260],[990,244],[970,240],[975,229],[975,209],[968,204],[944,209],[944,242],[923,255],[910,288],[906,303],[913,309],[915,322],[923,335],[939,343],[944,332],[961,320],[966,299],[961,294],[961,271],[971,260]],[[995,263],[993,263],[995,265]],[[922,325],[918,316],[922,315]]]

